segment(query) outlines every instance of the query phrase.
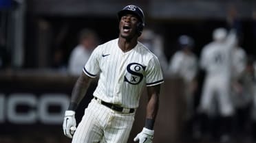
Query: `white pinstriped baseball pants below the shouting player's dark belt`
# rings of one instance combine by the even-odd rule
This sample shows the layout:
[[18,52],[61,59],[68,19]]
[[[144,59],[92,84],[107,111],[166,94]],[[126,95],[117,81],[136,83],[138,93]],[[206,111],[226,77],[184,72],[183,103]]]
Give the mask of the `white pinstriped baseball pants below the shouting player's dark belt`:
[[135,113],[122,114],[92,99],[72,143],[127,143]]

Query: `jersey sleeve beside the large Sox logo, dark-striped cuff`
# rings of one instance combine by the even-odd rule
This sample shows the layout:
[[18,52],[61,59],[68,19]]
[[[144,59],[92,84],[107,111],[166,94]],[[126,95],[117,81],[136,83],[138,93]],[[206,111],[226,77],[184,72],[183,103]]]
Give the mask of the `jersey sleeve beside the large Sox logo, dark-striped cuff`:
[[146,86],[155,86],[164,82],[162,69],[157,57],[153,57],[149,60],[146,74]]

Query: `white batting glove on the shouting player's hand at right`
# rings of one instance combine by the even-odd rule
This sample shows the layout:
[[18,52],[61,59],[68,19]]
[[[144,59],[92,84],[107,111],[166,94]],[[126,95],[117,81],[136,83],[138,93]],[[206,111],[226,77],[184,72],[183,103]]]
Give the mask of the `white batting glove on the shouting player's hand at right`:
[[143,128],[138,135],[136,135],[136,138],[134,138],[134,142],[137,142],[139,140],[139,143],[152,143],[153,141],[153,130]]

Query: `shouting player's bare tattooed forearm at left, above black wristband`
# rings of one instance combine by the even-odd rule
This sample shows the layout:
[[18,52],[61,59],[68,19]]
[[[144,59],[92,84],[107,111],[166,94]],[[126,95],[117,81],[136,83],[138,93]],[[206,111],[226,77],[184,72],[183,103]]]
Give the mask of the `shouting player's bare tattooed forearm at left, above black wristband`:
[[81,102],[81,100],[85,96],[90,83],[91,83],[91,79],[87,77],[87,75],[82,74],[80,77],[78,77],[75,83],[75,86],[72,90],[70,107],[68,109],[76,110],[76,108],[78,107],[78,104]]

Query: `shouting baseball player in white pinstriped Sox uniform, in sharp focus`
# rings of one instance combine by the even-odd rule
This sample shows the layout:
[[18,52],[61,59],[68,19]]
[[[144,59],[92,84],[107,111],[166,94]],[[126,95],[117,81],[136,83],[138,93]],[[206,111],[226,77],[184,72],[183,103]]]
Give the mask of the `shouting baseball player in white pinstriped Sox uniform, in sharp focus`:
[[[119,37],[94,49],[72,91],[63,121],[64,134],[73,138],[72,143],[127,142],[144,86],[149,96],[145,127],[134,141],[153,140],[160,83],[164,82],[162,70],[156,55],[138,42],[145,25],[142,10],[127,5],[118,12],[118,19]],[[94,99],[76,129],[76,107],[97,75]]]

